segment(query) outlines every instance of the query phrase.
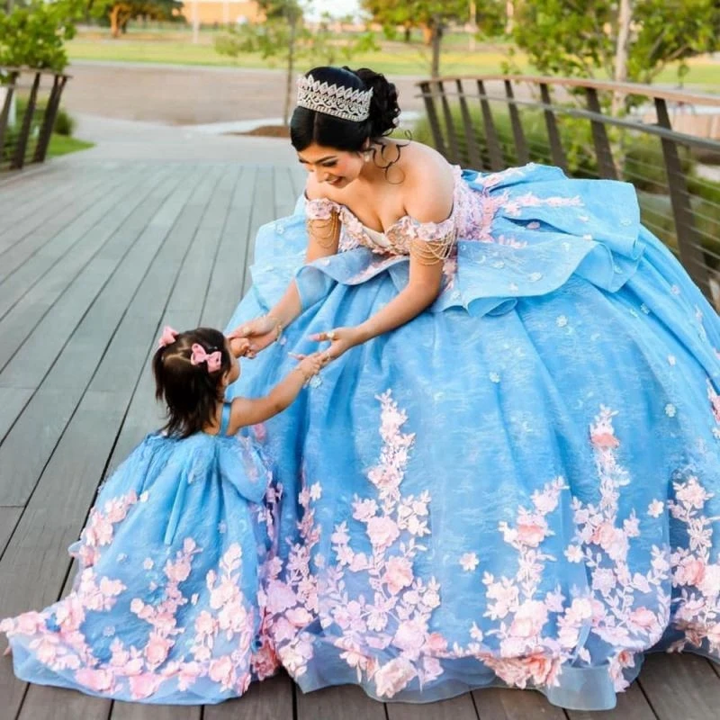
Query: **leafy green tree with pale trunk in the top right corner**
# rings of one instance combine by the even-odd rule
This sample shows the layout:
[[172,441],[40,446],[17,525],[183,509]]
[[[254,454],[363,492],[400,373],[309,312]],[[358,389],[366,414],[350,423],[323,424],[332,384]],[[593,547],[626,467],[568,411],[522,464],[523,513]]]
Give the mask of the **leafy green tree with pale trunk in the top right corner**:
[[717,0],[525,0],[513,37],[540,72],[650,83],[720,47]]

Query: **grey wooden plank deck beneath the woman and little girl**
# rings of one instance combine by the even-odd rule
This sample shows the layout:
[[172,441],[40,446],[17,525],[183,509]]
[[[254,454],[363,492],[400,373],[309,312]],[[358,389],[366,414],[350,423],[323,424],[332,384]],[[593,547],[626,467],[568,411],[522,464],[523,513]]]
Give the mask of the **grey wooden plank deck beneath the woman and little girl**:
[[[67,545],[98,483],[157,427],[159,329],[222,327],[247,288],[257,227],[292,210],[300,168],[63,159],[0,176],[0,617],[67,591]],[[652,656],[613,712],[534,692],[432,705],[356,688],[303,695],[283,675],[213,707],[112,703],[27,686],[0,658],[0,720],[711,720],[720,668]]]

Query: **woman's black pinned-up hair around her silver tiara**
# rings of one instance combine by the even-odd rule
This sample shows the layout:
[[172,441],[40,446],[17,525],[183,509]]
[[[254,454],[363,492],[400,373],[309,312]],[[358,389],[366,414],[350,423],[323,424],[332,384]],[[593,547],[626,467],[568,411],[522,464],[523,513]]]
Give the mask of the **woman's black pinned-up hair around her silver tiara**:
[[367,67],[314,67],[306,76],[330,85],[352,87],[354,90],[373,89],[370,116],[364,121],[343,120],[324,112],[296,107],[290,121],[293,148],[302,151],[313,142],[326,148],[359,152],[367,139],[375,141],[395,129],[400,114],[398,91],[384,75]]

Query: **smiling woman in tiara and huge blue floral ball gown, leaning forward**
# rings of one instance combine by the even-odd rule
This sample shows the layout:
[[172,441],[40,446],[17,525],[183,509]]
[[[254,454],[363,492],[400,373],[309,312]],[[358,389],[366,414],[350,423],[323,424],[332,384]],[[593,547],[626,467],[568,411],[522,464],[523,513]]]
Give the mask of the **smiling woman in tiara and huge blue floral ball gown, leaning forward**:
[[305,199],[230,325],[263,351],[234,392],[332,360],[266,427],[281,662],[303,690],[605,709],[647,651],[717,659],[716,313],[631,185],[461,172],[390,139],[398,113],[370,70],[301,78]]

